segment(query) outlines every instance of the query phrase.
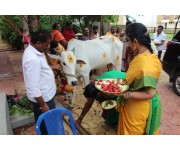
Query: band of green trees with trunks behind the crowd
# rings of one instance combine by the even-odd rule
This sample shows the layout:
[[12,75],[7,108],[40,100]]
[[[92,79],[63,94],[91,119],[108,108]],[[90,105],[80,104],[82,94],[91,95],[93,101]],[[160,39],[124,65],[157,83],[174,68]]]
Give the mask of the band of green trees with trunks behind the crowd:
[[[22,35],[19,35],[17,31],[15,31],[11,26],[4,22],[2,19],[3,16],[0,17],[0,31],[2,38],[17,49],[21,49],[23,47]],[[114,15],[13,15],[6,16],[6,18],[10,22],[12,22],[12,24],[16,28],[18,28],[24,35],[29,35],[31,34],[31,32],[37,31],[39,28],[46,29],[50,32],[54,23],[60,23],[63,29],[67,21],[72,22],[75,33],[82,33],[84,27],[88,27],[91,33],[93,23],[100,22],[100,20],[102,21],[102,27],[100,30],[102,30],[103,35],[104,22],[117,24],[118,21],[118,16]]]

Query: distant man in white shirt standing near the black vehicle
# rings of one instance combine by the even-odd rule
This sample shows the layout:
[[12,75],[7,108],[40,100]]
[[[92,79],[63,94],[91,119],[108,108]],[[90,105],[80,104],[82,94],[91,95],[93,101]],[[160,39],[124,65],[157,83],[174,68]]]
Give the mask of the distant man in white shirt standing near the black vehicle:
[[157,32],[153,34],[152,41],[156,45],[158,51],[158,58],[161,60],[161,54],[163,49],[163,44],[166,39],[166,34],[163,32],[163,26],[159,25]]

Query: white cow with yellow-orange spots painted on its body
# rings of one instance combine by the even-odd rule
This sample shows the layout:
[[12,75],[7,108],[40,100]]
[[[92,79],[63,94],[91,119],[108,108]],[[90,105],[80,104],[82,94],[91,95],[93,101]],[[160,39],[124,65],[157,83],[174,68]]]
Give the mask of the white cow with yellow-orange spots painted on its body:
[[[60,56],[50,56],[61,61],[68,84],[75,86],[76,75],[81,75],[86,86],[89,84],[89,73],[93,69],[100,69],[112,63],[114,69],[121,71],[122,51],[123,43],[118,38],[104,36],[88,41],[72,39],[68,43],[67,51],[62,51]],[[71,107],[74,106],[74,100],[75,94],[73,94]]]

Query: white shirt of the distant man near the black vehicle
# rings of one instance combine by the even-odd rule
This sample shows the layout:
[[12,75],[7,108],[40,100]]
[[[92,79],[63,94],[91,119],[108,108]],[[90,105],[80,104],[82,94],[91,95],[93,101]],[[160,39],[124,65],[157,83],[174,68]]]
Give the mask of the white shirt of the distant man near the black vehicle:
[[[159,43],[161,41],[165,41],[166,34],[164,32],[161,32],[161,34],[154,33],[152,36],[153,42]],[[161,51],[163,49],[163,45],[156,46],[157,51]]]

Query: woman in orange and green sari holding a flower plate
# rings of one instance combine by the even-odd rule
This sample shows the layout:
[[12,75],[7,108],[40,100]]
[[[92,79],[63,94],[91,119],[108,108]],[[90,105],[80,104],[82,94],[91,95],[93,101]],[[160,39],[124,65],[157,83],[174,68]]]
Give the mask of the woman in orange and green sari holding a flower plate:
[[133,23],[126,28],[129,52],[129,68],[126,80],[127,92],[117,99],[119,123],[117,134],[159,134],[161,103],[157,94],[157,81],[162,70],[161,63],[153,54],[146,27]]

